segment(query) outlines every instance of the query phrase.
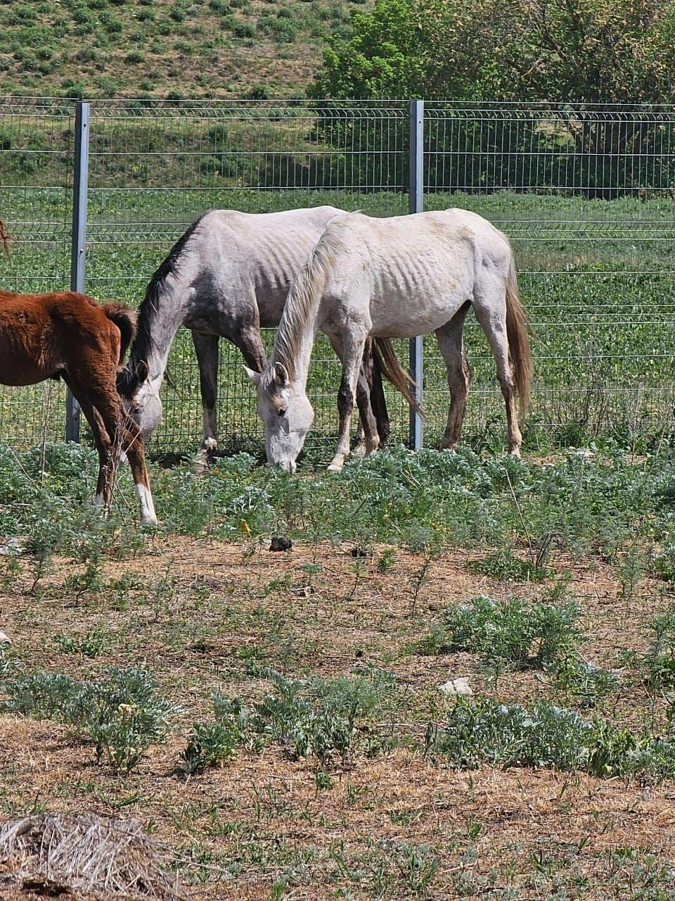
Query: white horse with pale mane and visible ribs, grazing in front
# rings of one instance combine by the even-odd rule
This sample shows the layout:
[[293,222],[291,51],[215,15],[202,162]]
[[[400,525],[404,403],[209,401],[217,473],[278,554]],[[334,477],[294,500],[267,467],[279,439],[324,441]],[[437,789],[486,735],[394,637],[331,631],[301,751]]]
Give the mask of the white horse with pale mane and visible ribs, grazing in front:
[[[286,299],[272,356],[257,385],[267,460],[289,471],[313,420],[305,393],[311,348],[321,329],[342,360],[338,448],[329,469],[349,453],[349,422],[365,341],[391,350],[389,339],[436,332],[446,362],[450,412],[442,447],[460,440],[471,372],[464,355],[464,318],[473,312],[490,342],[506,403],[509,452],[519,456],[515,396],[527,410],[532,359],[506,235],[481,216],[449,209],[374,219],[331,219]],[[397,383],[404,388],[404,383]],[[366,448],[369,435],[365,434]]]

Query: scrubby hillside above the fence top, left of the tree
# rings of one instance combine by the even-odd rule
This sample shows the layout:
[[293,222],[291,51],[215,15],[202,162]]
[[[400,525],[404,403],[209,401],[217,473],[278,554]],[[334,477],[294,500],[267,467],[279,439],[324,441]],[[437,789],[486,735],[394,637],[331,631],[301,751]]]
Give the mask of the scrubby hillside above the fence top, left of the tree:
[[356,0],[0,0],[0,85],[29,96],[303,96]]

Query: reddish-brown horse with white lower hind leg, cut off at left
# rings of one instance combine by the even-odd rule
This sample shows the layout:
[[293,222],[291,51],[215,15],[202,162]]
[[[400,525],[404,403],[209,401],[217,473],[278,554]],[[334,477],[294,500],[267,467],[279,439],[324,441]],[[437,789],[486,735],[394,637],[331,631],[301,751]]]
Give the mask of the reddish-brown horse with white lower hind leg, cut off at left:
[[[5,236],[0,224],[0,241]],[[124,452],[139,495],[140,523],[154,525],[143,440],[115,388],[135,332],[136,315],[123,304],[97,304],[75,291],[0,291],[0,384],[63,378],[94,434],[99,459],[94,503],[110,505],[117,460]]]

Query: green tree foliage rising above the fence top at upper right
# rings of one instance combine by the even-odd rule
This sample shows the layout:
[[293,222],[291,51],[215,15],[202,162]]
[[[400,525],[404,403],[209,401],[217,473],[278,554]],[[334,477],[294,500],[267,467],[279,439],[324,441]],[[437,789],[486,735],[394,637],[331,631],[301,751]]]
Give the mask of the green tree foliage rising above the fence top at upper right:
[[351,24],[314,96],[675,100],[673,2],[377,0]]

